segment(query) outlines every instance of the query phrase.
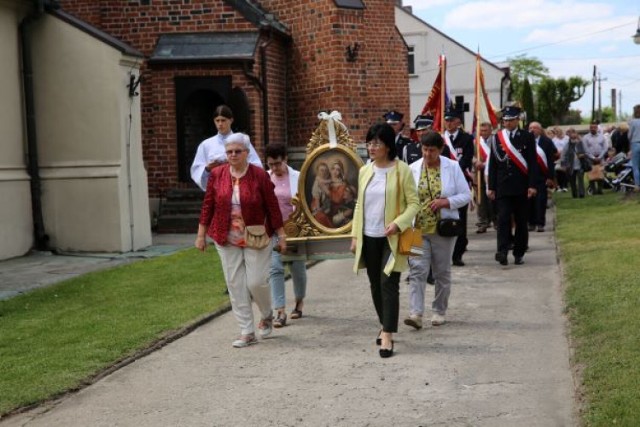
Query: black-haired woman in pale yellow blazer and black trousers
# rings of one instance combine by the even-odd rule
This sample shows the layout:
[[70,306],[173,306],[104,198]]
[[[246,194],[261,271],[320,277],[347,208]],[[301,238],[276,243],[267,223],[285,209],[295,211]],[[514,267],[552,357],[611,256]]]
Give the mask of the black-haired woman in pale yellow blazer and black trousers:
[[407,268],[406,256],[398,253],[398,236],[411,226],[420,208],[409,166],[396,159],[395,136],[386,123],[373,125],[367,132],[371,162],[360,169],[351,231],[354,271],[367,269],[373,305],[382,325],[376,339],[380,357],[393,356],[392,334],[398,331],[400,272]]

